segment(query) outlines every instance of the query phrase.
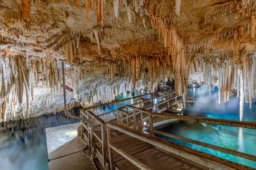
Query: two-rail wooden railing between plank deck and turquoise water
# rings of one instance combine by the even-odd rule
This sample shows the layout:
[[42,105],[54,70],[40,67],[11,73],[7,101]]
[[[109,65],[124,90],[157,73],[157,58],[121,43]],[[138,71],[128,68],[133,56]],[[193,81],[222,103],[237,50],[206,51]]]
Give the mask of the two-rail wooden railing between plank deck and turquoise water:
[[[243,158],[246,158],[246,159],[249,159],[249,160],[256,161],[256,156],[254,156],[254,155],[250,155],[250,154],[246,154],[246,153],[243,153],[243,152],[223,148],[223,147],[220,147],[220,146],[210,145],[210,144],[203,143],[203,142],[200,142],[200,141],[196,141],[196,140],[193,140],[193,139],[183,138],[183,137],[172,135],[172,134],[169,134],[169,133],[166,133],[166,132],[161,132],[161,131],[154,130],[153,117],[162,117],[162,118],[168,118],[168,119],[195,121],[195,122],[201,122],[201,123],[210,123],[210,124],[235,126],[235,127],[245,127],[245,128],[250,128],[250,129],[256,129],[256,122],[237,121],[237,120],[221,120],[221,119],[204,118],[204,117],[174,115],[174,114],[168,114],[168,113],[157,114],[157,113],[152,113],[148,110],[141,109],[139,107],[134,107],[134,106],[131,106],[131,105],[127,105],[127,109],[132,109],[134,114],[135,114],[135,112],[139,112],[141,114],[143,114],[143,113],[148,114],[148,126],[145,126],[143,124],[143,122],[137,122],[136,120],[133,120],[133,122],[135,122],[137,125],[142,124],[143,127],[148,128],[149,135],[154,136],[154,134],[160,134],[162,136],[166,136],[166,137],[169,137],[169,138],[179,139],[179,140],[182,140],[184,142],[189,142],[189,143],[192,143],[192,144],[195,144],[195,145],[200,145],[200,146],[203,146],[203,147],[214,149],[216,151],[222,151],[222,152],[225,152],[225,153],[228,153],[228,154],[231,154],[231,155],[235,155],[235,156],[238,156],[238,157],[243,157]],[[134,123],[134,126],[132,126],[133,129],[135,129],[135,123]],[[129,126],[127,126],[127,127],[129,127]]]

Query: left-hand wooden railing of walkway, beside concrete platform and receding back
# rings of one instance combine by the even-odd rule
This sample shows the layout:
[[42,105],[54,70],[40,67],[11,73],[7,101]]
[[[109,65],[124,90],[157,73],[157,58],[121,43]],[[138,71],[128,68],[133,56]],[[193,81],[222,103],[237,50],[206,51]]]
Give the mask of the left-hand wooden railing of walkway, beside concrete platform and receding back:
[[[106,144],[106,141],[105,141],[106,125],[105,124],[106,124],[106,122],[104,120],[102,120],[100,117],[103,116],[103,115],[108,115],[108,114],[113,115],[113,113],[117,112],[119,109],[116,109],[116,110],[113,110],[113,111],[110,111],[110,112],[107,112],[107,113],[102,113],[100,115],[94,114],[90,109],[105,106],[105,105],[108,105],[108,104],[113,104],[115,102],[126,101],[126,100],[130,100],[130,99],[135,99],[135,98],[141,98],[142,96],[146,96],[146,95],[153,96],[156,93],[162,93],[160,96],[152,97],[151,99],[148,99],[148,100],[145,100],[145,101],[140,100],[140,102],[133,104],[135,106],[137,104],[142,106],[143,103],[145,103],[147,101],[153,101],[153,100],[159,99],[159,98],[162,98],[162,100],[163,100],[164,98],[166,98],[166,96],[168,96],[167,98],[169,98],[169,96],[171,94],[175,93],[174,92],[174,93],[169,93],[169,94],[163,94],[163,93],[167,93],[168,90],[169,89],[164,90],[164,91],[160,91],[160,92],[155,92],[155,93],[151,93],[151,94],[143,94],[143,95],[131,97],[131,98],[128,98],[128,99],[113,101],[113,102],[110,102],[110,103],[105,103],[105,104],[96,105],[96,106],[93,106],[93,107],[87,107],[87,108],[80,109],[80,113],[81,113],[80,114],[81,115],[81,119],[80,119],[81,120],[81,136],[84,137],[85,140],[87,140],[87,142],[88,142],[88,146],[89,146],[89,149],[91,151],[92,159],[95,160],[95,156],[96,156],[99,159],[99,161],[100,161],[101,165],[103,166],[104,170],[107,169],[106,147],[105,147],[105,144]],[[166,102],[168,102],[168,105],[169,105],[169,101],[174,100],[174,99],[175,99],[175,102],[179,101],[179,100],[177,100],[177,98],[174,97],[174,98],[171,98],[170,100],[164,101],[162,103],[157,102],[156,105],[153,104],[153,106],[150,106],[147,109],[150,109],[150,108],[153,108],[153,107],[157,108],[159,105],[164,104]],[[125,108],[125,107],[121,107],[121,108]],[[117,117],[117,120],[118,119],[119,118]],[[125,119],[125,118],[122,118],[122,119]],[[98,135],[96,133],[96,131],[94,130],[95,126],[97,126],[95,124],[98,124],[98,125],[101,126],[101,134],[100,135]],[[85,134],[86,131],[87,131],[87,134]],[[99,142],[101,143],[101,146],[102,146],[101,151],[99,151],[99,149],[95,146],[95,139],[98,139]]]

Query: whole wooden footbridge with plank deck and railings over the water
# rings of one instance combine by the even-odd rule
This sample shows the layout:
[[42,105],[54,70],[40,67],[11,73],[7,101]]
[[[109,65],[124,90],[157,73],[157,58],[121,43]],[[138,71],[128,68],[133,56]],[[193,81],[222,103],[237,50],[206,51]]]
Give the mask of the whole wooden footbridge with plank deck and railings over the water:
[[[143,95],[125,99],[138,99],[138,102],[100,115],[94,114],[93,109],[120,101],[81,109],[82,139],[88,143],[91,158],[97,164],[98,169],[252,170],[252,168],[245,165],[155,137],[154,134],[160,134],[256,161],[255,155],[249,155],[155,130],[153,123],[161,119],[196,121],[256,129],[255,122],[220,120],[164,113],[169,107],[182,101],[181,96],[175,97],[174,94],[174,92],[164,90],[151,94],[151,99],[144,101],[141,100],[141,96]],[[154,95],[157,96],[154,97]],[[148,131],[142,132],[143,128],[147,128]]]

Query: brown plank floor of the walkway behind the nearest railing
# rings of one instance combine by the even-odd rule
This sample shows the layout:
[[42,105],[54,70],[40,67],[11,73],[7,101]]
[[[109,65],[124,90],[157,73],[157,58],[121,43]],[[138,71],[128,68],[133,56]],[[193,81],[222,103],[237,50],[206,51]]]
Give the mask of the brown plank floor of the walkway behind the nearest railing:
[[[129,155],[146,164],[152,170],[200,170],[175,157],[168,156],[154,149],[152,145],[128,135],[112,138],[112,145],[127,152]],[[107,156],[109,161],[109,157]],[[113,151],[115,168],[119,170],[140,170],[137,166]]]

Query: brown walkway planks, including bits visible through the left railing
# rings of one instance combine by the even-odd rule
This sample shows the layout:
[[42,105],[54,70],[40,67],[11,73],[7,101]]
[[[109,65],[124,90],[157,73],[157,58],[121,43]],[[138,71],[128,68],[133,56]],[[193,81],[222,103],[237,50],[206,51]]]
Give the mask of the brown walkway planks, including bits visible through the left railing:
[[[117,123],[116,119],[109,121]],[[101,127],[95,126],[94,132],[101,139]],[[107,139],[107,132],[105,132],[105,139]],[[122,151],[127,152],[129,155],[140,160],[143,164],[147,164],[152,170],[209,170],[200,164],[192,163],[189,160],[182,158],[179,159],[175,155],[169,156],[161,151],[155,149],[155,146],[150,145],[140,139],[136,139],[121,132],[111,130],[112,144],[120,148]],[[102,139],[101,139],[102,140]],[[102,151],[101,142],[95,139],[96,151]],[[108,143],[105,144],[108,148]],[[102,154],[102,153],[101,153]],[[109,151],[106,149],[106,158],[109,164]],[[113,151],[113,161],[116,170],[140,170],[130,161],[122,157],[116,151]],[[99,161],[97,161],[99,162]],[[100,165],[100,164],[98,164]],[[101,167],[103,169],[103,167]]]

